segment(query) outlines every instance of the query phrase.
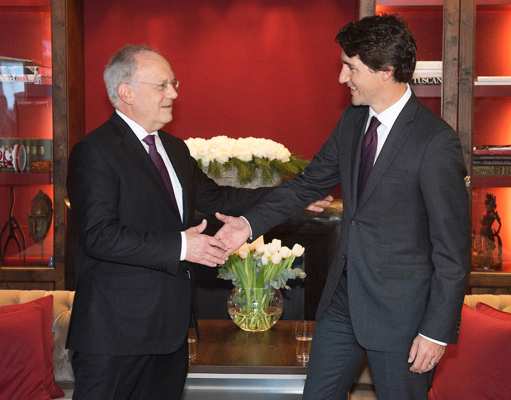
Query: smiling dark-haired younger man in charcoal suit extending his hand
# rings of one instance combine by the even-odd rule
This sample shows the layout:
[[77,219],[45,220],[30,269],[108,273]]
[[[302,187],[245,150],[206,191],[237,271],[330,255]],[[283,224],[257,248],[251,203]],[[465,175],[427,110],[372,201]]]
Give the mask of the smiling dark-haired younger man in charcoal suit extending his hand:
[[216,237],[234,249],[340,184],[338,250],[316,313],[304,398],[344,398],[367,355],[379,400],[427,399],[425,372],[456,343],[469,271],[460,141],[407,83],[416,45],[401,17],[349,23],[336,41],[352,105],[304,174],[246,220],[217,215],[225,225]]

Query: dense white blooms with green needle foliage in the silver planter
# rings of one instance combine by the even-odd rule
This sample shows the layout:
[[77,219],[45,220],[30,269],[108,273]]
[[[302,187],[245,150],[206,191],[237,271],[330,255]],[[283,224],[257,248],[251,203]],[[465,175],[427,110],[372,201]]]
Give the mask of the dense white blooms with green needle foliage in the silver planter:
[[250,182],[257,168],[261,168],[263,180],[271,180],[275,175],[282,179],[294,176],[309,164],[291,155],[283,144],[270,139],[215,136],[189,138],[184,142],[204,171],[219,177],[223,170],[236,167],[240,183]]

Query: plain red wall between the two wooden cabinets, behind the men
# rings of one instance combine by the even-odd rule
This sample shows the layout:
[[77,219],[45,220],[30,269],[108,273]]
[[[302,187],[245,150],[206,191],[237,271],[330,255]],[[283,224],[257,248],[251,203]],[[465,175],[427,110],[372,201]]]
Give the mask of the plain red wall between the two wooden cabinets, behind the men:
[[86,130],[112,112],[102,74],[124,44],[154,46],[181,82],[168,132],[265,137],[312,158],[349,90],[334,38],[355,0],[85,0]]

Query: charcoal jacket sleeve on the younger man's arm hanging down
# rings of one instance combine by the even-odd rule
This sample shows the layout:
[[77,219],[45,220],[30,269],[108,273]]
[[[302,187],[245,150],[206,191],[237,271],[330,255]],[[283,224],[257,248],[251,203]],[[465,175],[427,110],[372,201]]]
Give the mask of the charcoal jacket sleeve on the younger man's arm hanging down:
[[466,174],[456,132],[438,132],[426,147],[420,171],[434,270],[419,332],[447,343],[457,341],[470,266],[469,198],[463,184]]

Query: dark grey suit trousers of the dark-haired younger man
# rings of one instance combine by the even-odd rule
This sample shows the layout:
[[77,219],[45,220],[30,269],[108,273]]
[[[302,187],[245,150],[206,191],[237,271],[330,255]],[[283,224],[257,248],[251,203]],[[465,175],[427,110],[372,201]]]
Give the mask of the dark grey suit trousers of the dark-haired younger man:
[[411,372],[408,352],[371,351],[357,342],[343,272],[332,302],[316,322],[303,398],[346,398],[365,355],[378,400],[427,400],[429,372]]

